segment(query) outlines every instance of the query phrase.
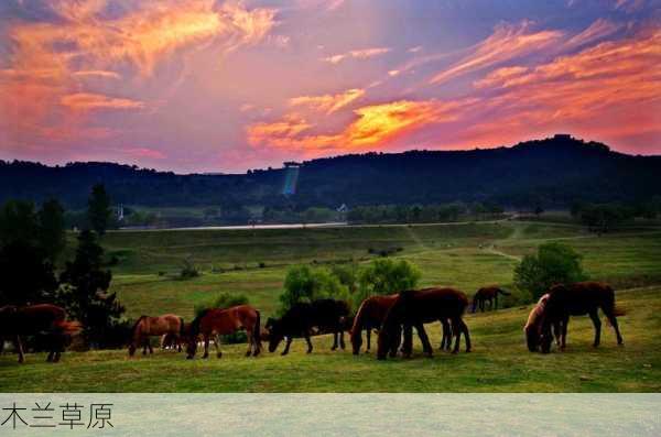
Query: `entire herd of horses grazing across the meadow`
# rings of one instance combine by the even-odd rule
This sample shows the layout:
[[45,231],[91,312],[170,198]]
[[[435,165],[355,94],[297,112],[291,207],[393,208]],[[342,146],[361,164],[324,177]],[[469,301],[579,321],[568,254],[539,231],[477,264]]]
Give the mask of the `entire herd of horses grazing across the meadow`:
[[[473,298],[475,313],[485,310],[489,302],[491,309],[498,305],[498,295],[509,293],[498,287],[484,287]],[[311,303],[297,303],[280,318],[269,318],[261,325],[260,312],[250,305],[229,308],[208,308],[195,319],[185,324],[180,316],[167,314],[159,317],[140,317],[131,331],[129,354],[143,348],[153,353],[150,339],[159,336],[163,347],[182,351],[185,346],[186,358],[195,357],[199,343],[204,347],[203,358],[209,354],[209,343],[214,340],[217,357],[221,357],[220,336],[246,331],[248,350],[246,357],[257,357],[261,352],[262,341],[268,341],[269,352],[274,352],[284,340],[282,354],[290,351],[294,338],[303,338],[307,343],[307,353],[313,351],[311,337],[319,334],[333,334],[333,350],[345,349],[345,331],[354,354],[360,353],[362,332],[366,334],[366,350],[371,347],[371,334],[378,331],[377,358],[395,357],[401,353],[410,357],[413,350],[413,328],[422,343],[424,354],[431,357],[433,347],[425,331],[425,324],[440,321],[442,327],[441,350],[457,353],[460,338],[464,336],[465,350],[470,351],[470,334],[464,321],[468,307],[468,297],[451,287],[430,287],[402,291],[400,293],[371,296],[366,298],[353,316],[349,305],[343,301],[318,299]],[[553,338],[563,350],[570,316],[588,315],[595,327],[594,346],[600,342],[602,323],[599,308],[615,329],[618,345],[622,345],[617,316],[624,313],[616,308],[615,292],[604,283],[579,282],[568,285],[554,285],[543,295],[530,312],[523,328],[525,342],[531,352],[549,353]],[[77,321],[67,321],[63,308],[50,304],[26,307],[6,306],[0,308],[0,352],[6,340],[12,340],[19,352],[19,362],[24,361],[21,337],[42,335],[48,340],[48,361],[56,362],[72,335],[82,329]],[[454,337],[454,346],[452,340]]]

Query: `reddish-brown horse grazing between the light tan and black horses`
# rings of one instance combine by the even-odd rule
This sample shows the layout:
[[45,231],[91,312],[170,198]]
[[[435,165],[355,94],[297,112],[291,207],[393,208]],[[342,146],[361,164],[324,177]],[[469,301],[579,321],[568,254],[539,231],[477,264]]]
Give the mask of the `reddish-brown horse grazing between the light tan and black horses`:
[[220,336],[234,334],[240,329],[246,329],[248,335],[248,350],[246,357],[257,357],[261,351],[260,335],[260,314],[250,305],[238,305],[229,308],[209,308],[197,316],[189,327],[187,334],[188,347],[186,348],[187,359],[195,357],[197,351],[197,338],[199,335],[204,338],[204,356],[209,356],[209,339],[213,337],[216,345],[218,358],[220,352]]

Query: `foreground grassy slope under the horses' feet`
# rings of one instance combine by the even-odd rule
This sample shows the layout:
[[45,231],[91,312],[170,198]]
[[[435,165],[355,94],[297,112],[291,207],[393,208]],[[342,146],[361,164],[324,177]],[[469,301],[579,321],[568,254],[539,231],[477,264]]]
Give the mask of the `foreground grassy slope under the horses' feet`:
[[[571,321],[565,352],[529,353],[521,332],[529,308],[510,308],[468,316],[474,351],[436,352],[433,359],[420,354],[418,342],[410,360],[332,352],[324,336],[310,356],[301,340],[288,357],[266,352],[257,359],[243,358],[243,346],[224,347],[220,360],[194,361],[170,351],[134,359],[126,351],[67,352],[62,364],[45,363],[39,354],[19,367],[15,357],[3,357],[0,374],[3,391],[23,392],[658,392],[661,288],[622,292],[618,301],[629,309],[620,318],[621,348],[606,324],[602,347],[592,348],[592,326],[581,317]],[[437,343],[437,324],[427,330]]]

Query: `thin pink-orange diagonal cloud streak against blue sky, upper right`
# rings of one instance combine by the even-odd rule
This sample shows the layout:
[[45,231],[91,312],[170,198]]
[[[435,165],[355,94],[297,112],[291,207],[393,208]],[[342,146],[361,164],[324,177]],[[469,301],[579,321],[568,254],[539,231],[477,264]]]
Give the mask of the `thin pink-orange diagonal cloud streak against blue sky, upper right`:
[[548,47],[563,36],[561,31],[530,32],[530,26],[531,23],[527,21],[518,26],[497,26],[488,39],[476,45],[472,54],[436,74],[430,83],[442,84],[468,73],[496,66]]

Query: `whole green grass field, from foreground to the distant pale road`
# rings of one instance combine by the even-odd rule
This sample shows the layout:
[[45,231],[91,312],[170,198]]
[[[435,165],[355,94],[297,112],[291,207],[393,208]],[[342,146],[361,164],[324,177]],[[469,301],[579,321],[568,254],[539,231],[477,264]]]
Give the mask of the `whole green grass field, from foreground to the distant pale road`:
[[[59,364],[43,354],[0,358],[4,392],[658,392],[661,390],[661,230],[627,229],[603,237],[563,223],[503,221],[449,226],[383,226],[289,230],[199,230],[111,232],[104,244],[120,261],[112,289],[129,316],[174,312],[191,317],[193,306],[221,292],[241,292],[264,315],[277,308],[291,264],[368,262],[368,249],[402,248],[397,258],[415,263],[421,285],[453,285],[467,294],[478,286],[511,286],[518,259],[545,241],[560,240],[584,255],[592,278],[616,285],[625,347],[604,324],[603,345],[592,348],[587,317],[572,319],[568,348],[550,356],[525,349],[522,326],[530,306],[514,292],[496,313],[467,315],[474,351],[433,359],[379,362],[373,353],[354,357],[329,350],[327,336],[314,339],[313,354],[295,340],[288,357],[266,352],[242,357],[245,346],[224,346],[223,359],[188,361],[158,351],[130,359],[126,350],[66,352]],[[184,259],[203,270],[195,280],[174,276]],[[264,263],[264,267],[259,267]],[[219,270],[223,273],[219,273]],[[434,342],[440,327],[430,325]]]

